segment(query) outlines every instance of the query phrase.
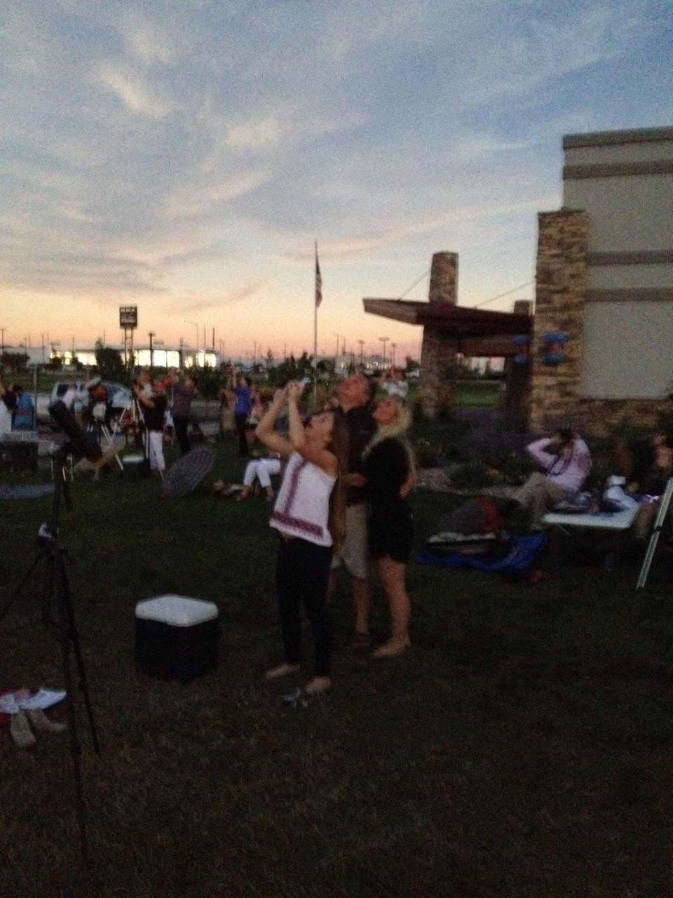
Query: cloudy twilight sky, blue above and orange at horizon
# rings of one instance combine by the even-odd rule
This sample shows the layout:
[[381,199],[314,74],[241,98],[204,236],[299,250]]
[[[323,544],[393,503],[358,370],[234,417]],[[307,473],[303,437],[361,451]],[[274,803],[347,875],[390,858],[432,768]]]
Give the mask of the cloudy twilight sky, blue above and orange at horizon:
[[363,297],[452,251],[459,304],[532,299],[563,136],[669,126],[671,47],[670,0],[6,0],[4,346],[136,305],[136,345],[417,358]]

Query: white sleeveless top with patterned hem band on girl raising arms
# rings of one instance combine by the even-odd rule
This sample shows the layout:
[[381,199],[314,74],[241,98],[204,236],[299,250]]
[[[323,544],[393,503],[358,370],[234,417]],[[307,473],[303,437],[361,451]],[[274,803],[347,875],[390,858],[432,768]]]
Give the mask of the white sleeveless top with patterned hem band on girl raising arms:
[[331,546],[329,496],[337,478],[292,453],[269,524],[286,536]]

